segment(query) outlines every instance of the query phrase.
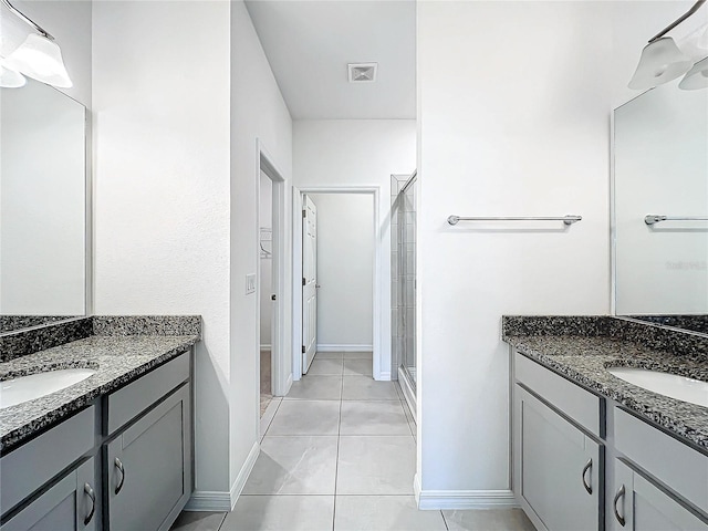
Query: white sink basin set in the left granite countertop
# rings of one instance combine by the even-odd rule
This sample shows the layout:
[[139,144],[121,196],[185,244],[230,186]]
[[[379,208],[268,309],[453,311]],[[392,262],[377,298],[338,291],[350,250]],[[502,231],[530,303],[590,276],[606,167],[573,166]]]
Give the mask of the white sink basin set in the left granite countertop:
[[55,393],[96,374],[91,368],[63,368],[0,382],[0,409]]

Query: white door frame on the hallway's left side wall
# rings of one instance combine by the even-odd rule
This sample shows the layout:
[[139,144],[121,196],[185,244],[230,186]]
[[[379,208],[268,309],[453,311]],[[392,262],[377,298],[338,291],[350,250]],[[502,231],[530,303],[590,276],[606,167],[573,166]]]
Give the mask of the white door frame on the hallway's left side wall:
[[[268,153],[263,143],[256,139],[256,249],[260,249],[260,210],[261,210],[261,171],[270,178],[272,183],[272,293],[275,294],[275,304],[273,304],[272,329],[271,329],[271,393],[273,396],[284,396],[292,385],[292,374],[285,371],[285,178],[283,173],[278,169],[273,157]],[[261,268],[260,252],[257,253],[257,289],[256,293],[256,333],[260,337],[261,325]],[[258,403],[260,404],[260,376],[261,376],[261,345],[260,341],[257,348],[257,391]],[[260,408],[257,412],[260,423]]]

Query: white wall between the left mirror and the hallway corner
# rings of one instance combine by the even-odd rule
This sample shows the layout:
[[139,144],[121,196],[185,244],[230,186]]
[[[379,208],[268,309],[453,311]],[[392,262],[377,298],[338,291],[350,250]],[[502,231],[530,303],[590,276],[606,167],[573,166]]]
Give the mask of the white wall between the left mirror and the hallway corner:
[[196,488],[217,492],[230,488],[240,429],[229,416],[229,17],[228,2],[93,10],[95,312],[204,317]]

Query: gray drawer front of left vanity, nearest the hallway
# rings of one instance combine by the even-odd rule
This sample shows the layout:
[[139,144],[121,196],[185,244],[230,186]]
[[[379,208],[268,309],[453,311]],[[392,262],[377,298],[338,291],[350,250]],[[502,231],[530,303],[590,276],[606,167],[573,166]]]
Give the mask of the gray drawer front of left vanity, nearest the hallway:
[[108,395],[105,435],[113,434],[187,379],[189,379],[189,353],[185,352]]

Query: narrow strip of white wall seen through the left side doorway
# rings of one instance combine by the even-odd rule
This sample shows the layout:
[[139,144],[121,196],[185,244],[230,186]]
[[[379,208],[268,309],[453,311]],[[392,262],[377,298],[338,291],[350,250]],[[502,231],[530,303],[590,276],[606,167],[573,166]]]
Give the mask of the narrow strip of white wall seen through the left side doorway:
[[[261,332],[260,344],[261,350],[269,350],[271,345],[271,334],[273,330],[273,303],[270,295],[273,293],[273,184],[263,171],[261,171],[261,197],[260,197],[260,210],[259,210],[259,229],[261,229],[261,247],[267,251],[271,251],[268,256],[262,249],[258,249],[260,258],[260,300],[261,300]],[[271,229],[271,240],[263,241],[267,231],[262,229]]]

